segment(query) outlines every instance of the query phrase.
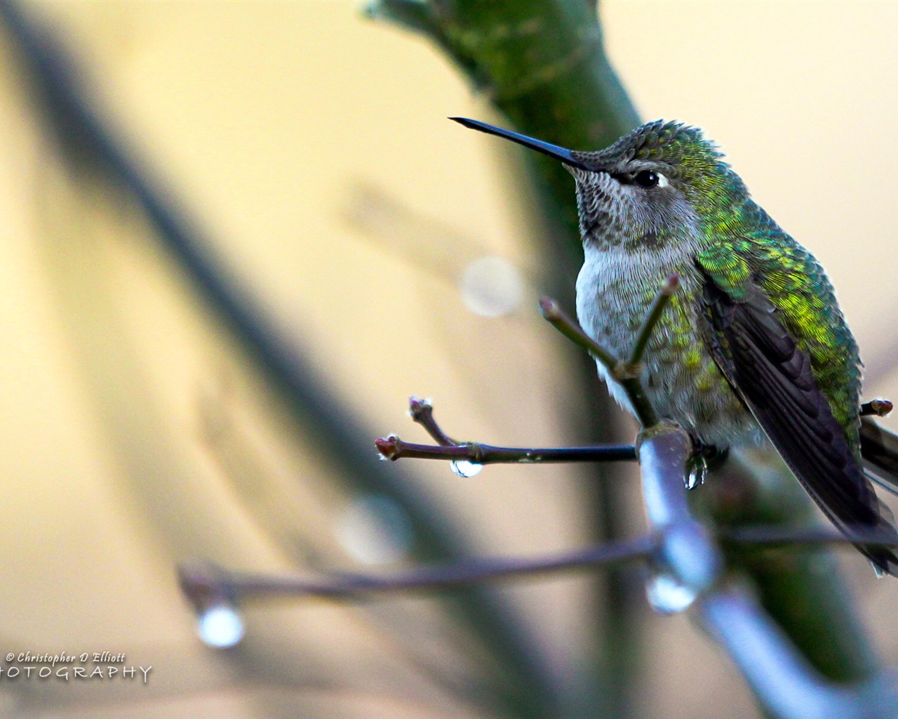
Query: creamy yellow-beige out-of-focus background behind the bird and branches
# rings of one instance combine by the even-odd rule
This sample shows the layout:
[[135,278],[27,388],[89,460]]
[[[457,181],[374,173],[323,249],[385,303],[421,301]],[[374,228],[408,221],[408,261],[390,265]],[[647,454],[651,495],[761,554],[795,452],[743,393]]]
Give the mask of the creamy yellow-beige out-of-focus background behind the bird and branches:
[[[392,431],[427,441],[409,395],[431,397],[458,439],[589,439],[569,422],[588,412],[576,351],[536,310],[546,288],[520,155],[445,118],[503,120],[425,40],[355,2],[21,9],[72,54],[91,102],[343,431],[296,411],[133,198],[61,150],[4,25],[0,656],[123,652],[153,669],[146,683],[0,678],[0,714],[590,715],[603,608],[589,576],[445,600],[254,603],[229,649],[201,641],[177,583],[194,559],[378,572],[440,542],[538,556],[593,537],[582,469],[462,478],[374,458]],[[640,116],[718,141],[829,272],[865,397],[898,400],[898,4],[605,0],[601,17]],[[638,481],[620,480],[635,535]],[[842,559],[894,664],[894,581]],[[688,617],[633,601],[631,715],[758,715]],[[528,677],[533,697],[515,708],[503,692]]]

